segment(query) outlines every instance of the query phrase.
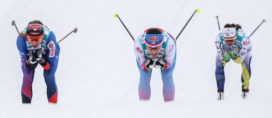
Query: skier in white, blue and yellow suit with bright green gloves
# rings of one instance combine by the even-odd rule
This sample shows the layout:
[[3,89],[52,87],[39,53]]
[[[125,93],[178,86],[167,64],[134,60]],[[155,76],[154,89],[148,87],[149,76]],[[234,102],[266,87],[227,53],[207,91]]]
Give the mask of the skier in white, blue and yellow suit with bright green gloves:
[[252,41],[244,33],[240,25],[226,24],[224,29],[215,38],[216,56],[215,77],[217,81],[218,100],[224,99],[225,64],[232,59],[242,64],[242,98],[247,97],[248,85],[251,75],[250,61],[252,54]]

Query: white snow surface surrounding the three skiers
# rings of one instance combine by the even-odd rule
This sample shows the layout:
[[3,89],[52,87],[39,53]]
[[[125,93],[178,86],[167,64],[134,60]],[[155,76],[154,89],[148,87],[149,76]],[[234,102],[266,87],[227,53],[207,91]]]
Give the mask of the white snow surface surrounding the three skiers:
[[[271,117],[270,91],[272,43],[270,0],[9,0],[0,7],[0,117]],[[174,37],[177,45],[173,73],[175,101],[164,103],[159,70],[153,70],[150,101],[139,101],[140,73],[134,38],[158,27]],[[215,15],[222,28],[240,24],[251,36],[253,56],[248,99],[241,99],[241,65],[225,67],[225,100],[217,101],[214,39],[218,35]],[[57,41],[74,28],[78,32],[60,42],[56,72],[58,103],[48,104],[43,68],[35,70],[31,105],[21,103],[22,71],[16,47],[17,32],[28,22],[40,20]]]

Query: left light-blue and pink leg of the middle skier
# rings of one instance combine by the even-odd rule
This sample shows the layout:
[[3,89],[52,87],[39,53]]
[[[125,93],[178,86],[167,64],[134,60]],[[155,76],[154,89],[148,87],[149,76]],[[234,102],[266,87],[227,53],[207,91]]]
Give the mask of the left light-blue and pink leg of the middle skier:
[[152,70],[144,70],[140,67],[137,61],[138,69],[140,70],[140,83],[138,87],[139,99],[140,100],[150,100],[151,96],[151,88],[150,88],[150,80]]

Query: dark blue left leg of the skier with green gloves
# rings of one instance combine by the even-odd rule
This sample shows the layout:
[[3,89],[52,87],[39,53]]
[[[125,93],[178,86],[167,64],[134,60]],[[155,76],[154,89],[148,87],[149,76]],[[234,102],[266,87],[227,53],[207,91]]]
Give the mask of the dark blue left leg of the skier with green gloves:
[[224,91],[225,84],[225,73],[224,73],[225,64],[222,63],[219,56],[216,55],[216,69],[215,69],[215,78],[217,82],[217,89],[219,91]]

